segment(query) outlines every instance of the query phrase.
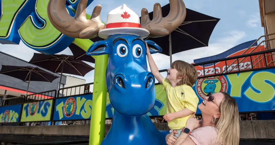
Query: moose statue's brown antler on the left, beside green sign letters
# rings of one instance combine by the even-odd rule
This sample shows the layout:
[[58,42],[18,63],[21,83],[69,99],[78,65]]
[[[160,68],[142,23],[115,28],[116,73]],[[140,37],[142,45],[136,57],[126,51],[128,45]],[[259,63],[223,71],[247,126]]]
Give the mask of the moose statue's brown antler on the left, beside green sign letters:
[[91,18],[86,18],[87,0],[80,0],[74,17],[65,7],[66,0],[49,0],[47,12],[52,25],[64,35],[73,38],[90,39],[98,36],[98,31],[105,28],[100,20],[101,6],[93,9]]

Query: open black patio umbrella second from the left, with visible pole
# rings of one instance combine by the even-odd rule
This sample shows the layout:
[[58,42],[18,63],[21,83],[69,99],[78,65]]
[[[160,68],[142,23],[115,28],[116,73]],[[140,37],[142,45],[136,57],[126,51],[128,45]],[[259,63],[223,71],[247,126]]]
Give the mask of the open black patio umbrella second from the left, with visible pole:
[[60,89],[63,73],[84,77],[94,69],[83,61],[75,60],[72,55],[45,55],[34,53],[29,63],[40,66],[54,73],[61,73],[58,89]]

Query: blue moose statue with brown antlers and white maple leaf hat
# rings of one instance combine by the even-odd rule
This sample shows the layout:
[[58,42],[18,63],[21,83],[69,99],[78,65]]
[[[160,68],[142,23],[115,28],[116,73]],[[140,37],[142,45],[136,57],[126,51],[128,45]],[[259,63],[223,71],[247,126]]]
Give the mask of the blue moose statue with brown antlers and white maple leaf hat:
[[[154,5],[153,20],[148,11],[138,15],[125,4],[109,12],[106,24],[100,20],[101,6],[97,5],[91,18],[86,18],[87,0],[80,0],[75,16],[65,7],[66,0],[50,0],[47,11],[52,25],[64,35],[80,39],[101,37],[87,55],[108,54],[106,84],[114,108],[113,122],[102,145],[165,145],[168,131],[158,131],[148,113],[155,104],[155,77],[148,71],[146,44],[150,53],[162,48],[147,37],[166,36],[180,26],[186,16],[182,0],[169,0],[170,12],[162,17],[159,3]],[[145,40],[144,40],[145,39]]]

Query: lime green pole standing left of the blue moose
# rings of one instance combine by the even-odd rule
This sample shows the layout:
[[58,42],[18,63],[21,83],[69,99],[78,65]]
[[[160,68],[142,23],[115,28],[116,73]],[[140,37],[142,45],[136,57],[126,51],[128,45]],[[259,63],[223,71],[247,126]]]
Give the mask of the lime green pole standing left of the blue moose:
[[[89,39],[74,39],[76,44],[81,49],[87,51],[93,44]],[[106,68],[108,63],[108,55],[92,56],[96,59],[94,84],[93,84],[93,103],[91,111],[91,125],[89,145],[100,145],[104,138],[105,131],[105,112],[106,112]]]

